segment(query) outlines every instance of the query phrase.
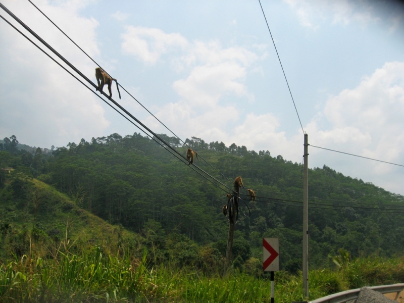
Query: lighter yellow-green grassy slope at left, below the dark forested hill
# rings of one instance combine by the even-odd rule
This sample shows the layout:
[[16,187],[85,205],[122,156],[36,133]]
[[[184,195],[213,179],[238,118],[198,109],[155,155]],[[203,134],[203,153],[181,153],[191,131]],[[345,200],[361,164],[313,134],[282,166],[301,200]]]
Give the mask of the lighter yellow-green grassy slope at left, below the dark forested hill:
[[[77,206],[66,194],[17,170],[3,174],[0,192],[0,259],[21,257],[32,249],[55,249],[104,242],[139,242],[140,237],[122,226],[112,226]],[[5,181],[5,182],[4,182]]]

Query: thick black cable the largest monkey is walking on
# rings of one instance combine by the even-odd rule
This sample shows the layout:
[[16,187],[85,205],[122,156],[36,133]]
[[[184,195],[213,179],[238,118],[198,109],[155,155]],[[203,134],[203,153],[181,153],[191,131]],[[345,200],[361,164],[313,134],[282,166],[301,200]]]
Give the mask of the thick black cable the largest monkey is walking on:
[[[68,60],[66,60],[62,55],[60,55],[51,45],[49,45],[46,41],[44,41],[39,35],[37,35],[33,30],[31,30],[24,22],[22,22],[17,16],[15,16],[10,10],[8,10],[2,3],[0,3],[0,7],[8,13],[14,20],[16,20],[18,23],[20,23],[21,26],[23,26],[30,34],[32,34],[36,39],[38,39],[43,45],[45,45],[51,52],[53,52],[56,56],[59,57],[64,63],[66,63],[71,69],[73,69],[77,74],[79,74],[83,79],[85,79],[88,83],[90,83],[94,88],[97,88],[97,86],[92,83],[91,80],[89,80],[83,73],[81,73],[75,66],[73,66]],[[103,92],[105,96],[108,96],[105,92]],[[123,108],[119,103],[117,103],[114,99],[109,99],[112,103],[114,103],[117,107],[121,109],[126,115],[128,115],[130,118],[135,120],[138,124],[140,124],[144,129],[146,129],[149,133],[153,134],[156,138],[158,138],[160,141],[162,141],[164,144],[166,144],[170,149],[172,149],[176,154],[178,154],[180,157],[182,157],[184,160],[185,157],[179,153],[178,150],[176,150],[174,147],[172,147],[169,143],[167,143],[165,140],[163,140],[158,134],[150,130],[146,125],[144,125],[142,122],[140,122],[136,117],[134,117],[131,113],[129,113],[125,108]],[[200,169],[199,167],[195,166],[199,170],[203,171],[205,174],[207,174],[209,177],[214,179],[216,182],[220,183],[224,187],[230,188],[217,180],[215,177],[211,176],[204,170]]]

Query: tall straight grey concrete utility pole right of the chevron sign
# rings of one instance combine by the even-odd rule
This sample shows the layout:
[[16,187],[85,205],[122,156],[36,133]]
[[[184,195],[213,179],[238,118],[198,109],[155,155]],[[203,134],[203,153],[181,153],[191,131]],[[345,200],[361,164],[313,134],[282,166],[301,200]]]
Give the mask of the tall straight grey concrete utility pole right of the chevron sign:
[[303,171],[303,292],[309,297],[309,139],[305,134],[305,153]]

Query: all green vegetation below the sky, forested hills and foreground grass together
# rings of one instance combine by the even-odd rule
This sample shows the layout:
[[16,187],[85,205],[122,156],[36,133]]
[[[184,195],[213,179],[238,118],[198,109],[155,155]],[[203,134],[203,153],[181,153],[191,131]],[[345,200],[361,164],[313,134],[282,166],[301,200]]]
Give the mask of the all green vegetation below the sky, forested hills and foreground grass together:
[[[262,237],[280,242],[277,301],[305,299],[293,202],[301,164],[235,144],[186,143],[229,179],[202,159],[197,166],[230,188],[236,176],[246,186],[251,216],[236,225],[229,276],[226,191],[153,140],[112,134],[47,150],[12,136],[0,144],[0,300],[266,302]],[[327,166],[309,171],[309,195],[311,299],[404,282],[404,197]]]

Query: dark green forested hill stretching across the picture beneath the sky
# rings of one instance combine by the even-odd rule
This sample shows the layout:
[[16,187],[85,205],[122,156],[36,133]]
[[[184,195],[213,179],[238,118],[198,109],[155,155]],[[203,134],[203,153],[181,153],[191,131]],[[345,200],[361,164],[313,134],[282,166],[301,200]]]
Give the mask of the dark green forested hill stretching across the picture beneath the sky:
[[[185,155],[187,147],[178,139],[162,137]],[[10,174],[1,171],[1,199],[16,198],[12,178],[23,173],[54,186],[109,223],[140,233],[153,242],[158,261],[166,260],[174,238],[183,243],[185,263],[192,263],[201,247],[217,251],[218,258],[225,254],[228,223],[221,209],[229,190],[212,184],[150,138],[112,134],[46,153],[38,147],[32,154],[17,143],[10,137],[0,144],[0,167],[14,169]],[[230,188],[234,178],[242,176],[241,193],[252,188],[258,196],[255,204],[244,196],[251,215],[241,216],[236,224],[234,266],[261,259],[262,237],[279,237],[281,268],[298,270],[302,165],[235,144],[208,144],[194,137],[186,143],[201,156],[195,165]],[[248,215],[245,206],[242,210]],[[1,223],[9,224],[5,213],[0,212]],[[327,166],[310,169],[309,232],[311,266],[326,265],[327,256],[340,248],[352,257],[402,254],[404,198]]]

